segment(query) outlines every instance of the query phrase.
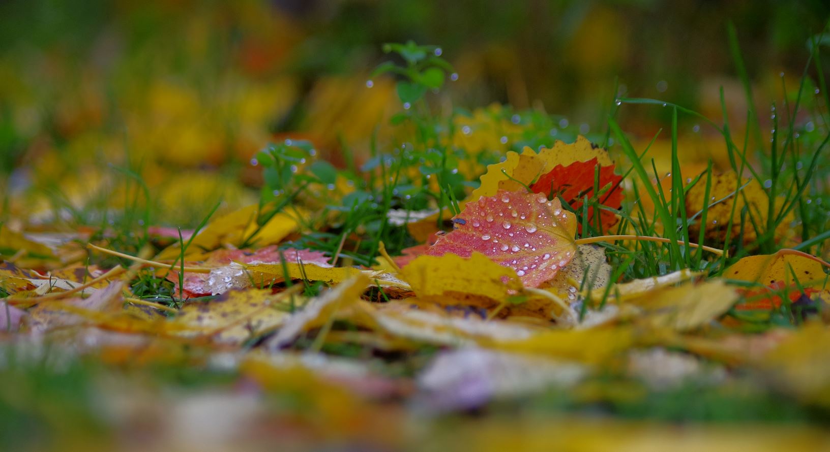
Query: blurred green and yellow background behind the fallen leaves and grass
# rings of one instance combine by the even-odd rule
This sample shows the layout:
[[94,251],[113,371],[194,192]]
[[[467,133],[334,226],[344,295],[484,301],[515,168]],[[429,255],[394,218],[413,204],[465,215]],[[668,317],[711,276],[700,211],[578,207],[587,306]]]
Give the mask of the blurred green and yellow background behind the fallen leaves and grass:
[[[242,202],[250,193],[237,182],[256,186],[247,162],[269,140],[300,135],[335,163],[344,145],[366,155],[373,130],[400,109],[392,80],[372,90],[366,80],[389,57],[383,42],[410,39],[442,46],[457,69],[432,95],[443,111],[510,104],[562,115],[560,125],[590,138],[618,95],[720,122],[722,86],[740,123],[747,104],[728,23],[765,111],[782,83],[794,94],[808,38],[828,17],[821,0],[5,0],[0,177],[7,192],[35,187],[74,202],[99,187],[91,166],[139,161],[150,187],[164,182],[180,199],[186,181],[199,209],[217,192]],[[627,106],[618,119],[647,139],[670,114]],[[681,135],[705,139],[699,122],[682,116]]]

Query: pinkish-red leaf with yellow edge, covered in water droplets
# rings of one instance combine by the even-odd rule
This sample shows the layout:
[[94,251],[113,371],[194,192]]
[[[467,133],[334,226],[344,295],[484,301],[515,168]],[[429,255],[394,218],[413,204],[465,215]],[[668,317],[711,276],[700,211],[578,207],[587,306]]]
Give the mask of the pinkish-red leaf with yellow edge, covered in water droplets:
[[576,217],[558,199],[499,190],[495,197],[468,202],[453,221],[455,229],[441,236],[427,255],[473,251],[510,267],[525,287],[537,287],[568,265],[576,245]]

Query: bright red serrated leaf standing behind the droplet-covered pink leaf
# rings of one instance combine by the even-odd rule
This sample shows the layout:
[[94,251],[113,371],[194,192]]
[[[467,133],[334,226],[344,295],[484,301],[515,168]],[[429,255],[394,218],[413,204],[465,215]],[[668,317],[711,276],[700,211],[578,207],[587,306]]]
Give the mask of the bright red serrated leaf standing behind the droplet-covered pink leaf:
[[[567,201],[578,213],[581,212],[583,197],[593,197],[594,171],[598,165],[597,158],[587,162],[574,162],[568,166],[556,165],[549,173],[542,175],[530,189],[536,193],[543,193],[550,197],[551,193],[559,195]],[[599,167],[599,197],[600,204],[619,209],[623,204],[623,189],[620,187],[622,176],[614,174],[614,166]],[[603,192],[603,188],[608,190]],[[617,223],[617,217],[612,212],[601,211],[603,226],[608,228]],[[593,207],[588,207],[588,219],[593,219]]]

